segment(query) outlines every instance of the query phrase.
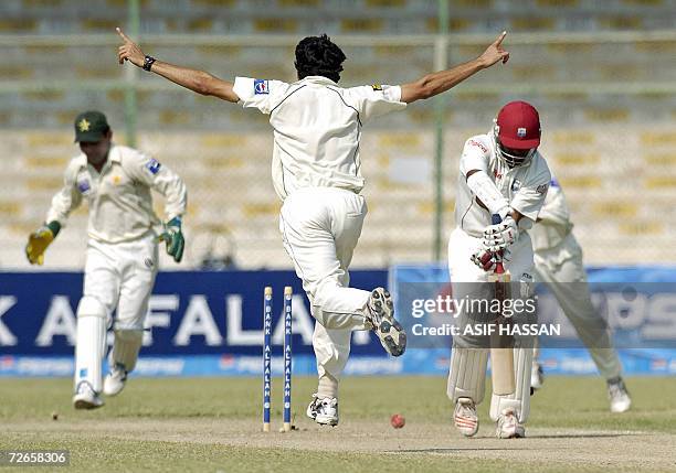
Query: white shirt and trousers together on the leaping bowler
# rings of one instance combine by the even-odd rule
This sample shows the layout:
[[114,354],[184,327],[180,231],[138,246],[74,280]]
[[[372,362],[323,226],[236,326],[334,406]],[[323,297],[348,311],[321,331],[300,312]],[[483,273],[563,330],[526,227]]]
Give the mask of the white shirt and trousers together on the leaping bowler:
[[[359,140],[371,118],[404,109],[401,87],[342,88],[320,76],[293,84],[237,77],[244,107],[270,115],[272,174],[284,201],[279,229],[319,323],[313,346],[319,394],[336,397],[351,331],[365,330],[368,291],[349,288],[348,267],[367,214]],[[328,381],[328,383],[327,383]],[[332,385],[325,390],[323,386]]]

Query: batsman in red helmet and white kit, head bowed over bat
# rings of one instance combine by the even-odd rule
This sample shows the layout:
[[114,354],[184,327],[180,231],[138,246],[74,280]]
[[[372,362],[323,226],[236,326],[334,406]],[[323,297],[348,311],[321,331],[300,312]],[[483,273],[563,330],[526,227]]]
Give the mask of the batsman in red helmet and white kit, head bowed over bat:
[[[542,207],[551,178],[538,152],[540,135],[535,107],[511,101],[500,109],[488,133],[466,141],[460,161],[456,228],[448,240],[448,269],[456,300],[496,298],[496,293],[488,293],[496,284],[487,282],[503,266],[511,275],[511,298],[531,297],[534,254],[528,230]],[[461,326],[476,315],[465,308],[460,313]],[[484,321],[495,319],[490,313],[479,315]],[[514,313],[513,319],[517,315]],[[455,405],[455,427],[466,437],[478,430],[476,406],[484,399],[492,346],[486,338],[475,334],[453,337],[447,395]],[[528,419],[534,340],[515,338],[514,375],[501,374],[514,376],[514,391],[497,394],[494,385],[490,402],[498,438],[524,437]],[[493,365],[495,369],[495,359]]]

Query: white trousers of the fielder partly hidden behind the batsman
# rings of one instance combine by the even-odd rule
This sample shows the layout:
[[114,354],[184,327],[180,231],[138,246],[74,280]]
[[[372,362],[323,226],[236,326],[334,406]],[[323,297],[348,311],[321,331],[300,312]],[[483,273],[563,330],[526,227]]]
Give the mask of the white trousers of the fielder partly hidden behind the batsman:
[[[567,241],[564,240],[562,245],[567,245]],[[613,347],[610,327],[592,304],[582,252],[577,244],[574,246],[577,248],[570,251],[573,256],[553,267],[536,252],[536,282],[547,284],[589,350],[601,376],[611,379],[622,375],[622,365]],[[550,255],[551,250],[547,254]]]

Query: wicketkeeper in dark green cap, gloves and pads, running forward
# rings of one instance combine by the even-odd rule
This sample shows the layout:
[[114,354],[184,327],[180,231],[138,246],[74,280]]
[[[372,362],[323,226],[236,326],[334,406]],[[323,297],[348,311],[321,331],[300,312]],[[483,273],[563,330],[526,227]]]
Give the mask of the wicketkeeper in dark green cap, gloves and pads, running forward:
[[[158,267],[158,240],[179,262],[183,255],[181,217],[186,212],[183,181],[147,154],[113,143],[113,130],[101,111],[75,119],[75,141],[82,153],[71,160],[61,191],[52,198],[45,224],[25,247],[31,265],[42,265],[44,251],[82,201],[89,207],[84,293],[77,305],[75,409],[104,405],[119,394],[136,366],[144,335],[148,299]],[[166,197],[167,224],[152,209],[150,190]],[[113,316],[115,312],[115,316]],[[115,342],[110,372],[103,381],[106,331]]]

